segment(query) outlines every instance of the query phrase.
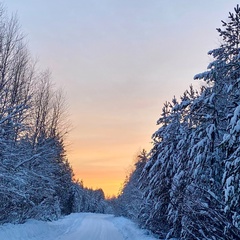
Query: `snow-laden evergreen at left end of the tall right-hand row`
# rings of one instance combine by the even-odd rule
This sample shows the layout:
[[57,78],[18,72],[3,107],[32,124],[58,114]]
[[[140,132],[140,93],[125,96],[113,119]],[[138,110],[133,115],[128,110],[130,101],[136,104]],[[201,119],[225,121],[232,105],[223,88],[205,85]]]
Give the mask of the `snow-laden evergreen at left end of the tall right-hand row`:
[[[139,214],[140,224],[161,237],[165,236],[169,229],[166,211],[170,199],[169,189],[172,180],[173,163],[170,158],[173,146],[175,146],[175,141],[171,141],[172,144],[169,145],[167,141],[167,137],[169,139],[173,136],[172,134],[166,134],[168,129],[171,128],[170,112],[171,104],[166,102],[163,106],[162,117],[158,120],[158,124],[161,123],[162,128],[153,136],[154,147],[150,153],[152,156],[141,176],[141,187],[145,190],[145,201]],[[162,171],[164,161],[166,169]]]

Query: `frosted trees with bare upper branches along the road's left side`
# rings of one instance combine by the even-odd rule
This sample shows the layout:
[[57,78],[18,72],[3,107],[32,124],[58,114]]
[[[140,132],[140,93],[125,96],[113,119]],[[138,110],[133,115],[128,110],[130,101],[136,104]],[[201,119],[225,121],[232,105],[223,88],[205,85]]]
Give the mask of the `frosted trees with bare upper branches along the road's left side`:
[[0,223],[105,211],[101,190],[73,181],[65,110],[49,73],[36,70],[18,21],[0,6]]

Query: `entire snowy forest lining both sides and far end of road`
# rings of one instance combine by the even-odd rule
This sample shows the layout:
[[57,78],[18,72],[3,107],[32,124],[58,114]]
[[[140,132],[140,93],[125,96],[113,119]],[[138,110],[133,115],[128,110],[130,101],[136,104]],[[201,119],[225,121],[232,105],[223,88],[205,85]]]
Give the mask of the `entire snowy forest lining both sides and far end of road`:
[[73,179],[64,98],[38,72],[16,18],[0,13],[0,223],[114,213],[161,239],[239,239],[240,8],[217,29],[212,62],[178,100],[166,102],[153,147],[137,157],[120,195]]

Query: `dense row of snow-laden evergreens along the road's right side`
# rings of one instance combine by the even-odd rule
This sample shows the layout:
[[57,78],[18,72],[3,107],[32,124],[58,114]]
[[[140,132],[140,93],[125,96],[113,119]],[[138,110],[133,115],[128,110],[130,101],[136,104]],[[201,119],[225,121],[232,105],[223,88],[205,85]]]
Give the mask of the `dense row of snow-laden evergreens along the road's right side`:
[[163,106],[153,148],[114,201],[162,239],[240,239],[240,8],[217,29],[213,61]]

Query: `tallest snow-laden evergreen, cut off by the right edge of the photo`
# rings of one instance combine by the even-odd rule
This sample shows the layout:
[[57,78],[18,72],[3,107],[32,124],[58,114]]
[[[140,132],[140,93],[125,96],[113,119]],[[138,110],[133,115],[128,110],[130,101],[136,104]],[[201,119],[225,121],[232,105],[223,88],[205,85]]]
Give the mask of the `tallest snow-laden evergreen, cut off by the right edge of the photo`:
[[[208,71],[198,74],[195,79],[203,79],[212,85],[212,95],[209,100],[214,102],[215,114],[211,117],[217,124],[217,142],[215,152],[220,154],[220,163],[225,166],[222,177],[224,195],[223,210],[230,221],[224,227],[229,239],[236,232],[239,236],[239,79],[240,79],[240,8],[237,5],[233,13],[229,13],[227,22],[222,21],[223,28],[218,28],[222,43],[219,48],[209,52],[214,61],[208,66]],[[216,141],[216,140],[215,140]],[[216,162],[216,157],[215,157]],[[215,170],[215,169],[213,169]],[[217,176],[216,176],[217,177]],[[219,195],[219,194],[218,194]],[[224,207],[225,206],[225,207]],[[235,228],[231,225],[235,226]],[[238,235],[237,235],[238,234]],[[224,238],[228,239],[228,238]]]

